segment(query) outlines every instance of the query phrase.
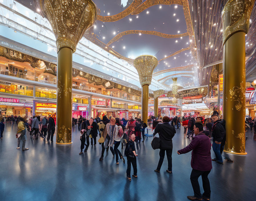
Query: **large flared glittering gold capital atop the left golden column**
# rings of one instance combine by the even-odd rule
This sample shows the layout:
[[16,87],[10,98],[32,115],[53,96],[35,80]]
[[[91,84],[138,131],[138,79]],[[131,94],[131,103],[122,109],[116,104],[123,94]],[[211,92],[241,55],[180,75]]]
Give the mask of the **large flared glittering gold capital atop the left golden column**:
[[96,6],[91,0],[40,0],[40,7],[56,37],[57,51],[76,46],[96,20]]

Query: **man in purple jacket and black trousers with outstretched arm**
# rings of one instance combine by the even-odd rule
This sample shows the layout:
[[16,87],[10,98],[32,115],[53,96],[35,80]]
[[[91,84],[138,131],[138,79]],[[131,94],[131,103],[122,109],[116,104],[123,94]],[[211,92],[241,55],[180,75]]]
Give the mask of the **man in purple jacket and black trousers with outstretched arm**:
[[[178,154],[185,154],[192,151],[191,167],[192,172],[190,175],[190,181],[194,190],[194,196],[187,196],[189,200],[210,200],[211,189],[208,174],[211,172],[211,141],[208,136],[203,133],[203,124],[201,122],[195,122],[194,124],[195,137],[191,143],[185,148],[178,150]],[[202,176],[203,195],[200,192],[200,186],[198,183],[199,176]]]

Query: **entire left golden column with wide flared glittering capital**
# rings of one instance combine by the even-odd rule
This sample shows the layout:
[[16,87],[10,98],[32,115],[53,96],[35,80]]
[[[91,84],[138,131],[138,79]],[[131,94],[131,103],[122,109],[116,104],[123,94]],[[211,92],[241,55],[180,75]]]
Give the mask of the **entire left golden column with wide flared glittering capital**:
[[96,20],[91,0],[40,0],[57,45],[57,136],[56,144],[71,144],[72,55],[85,31]]

